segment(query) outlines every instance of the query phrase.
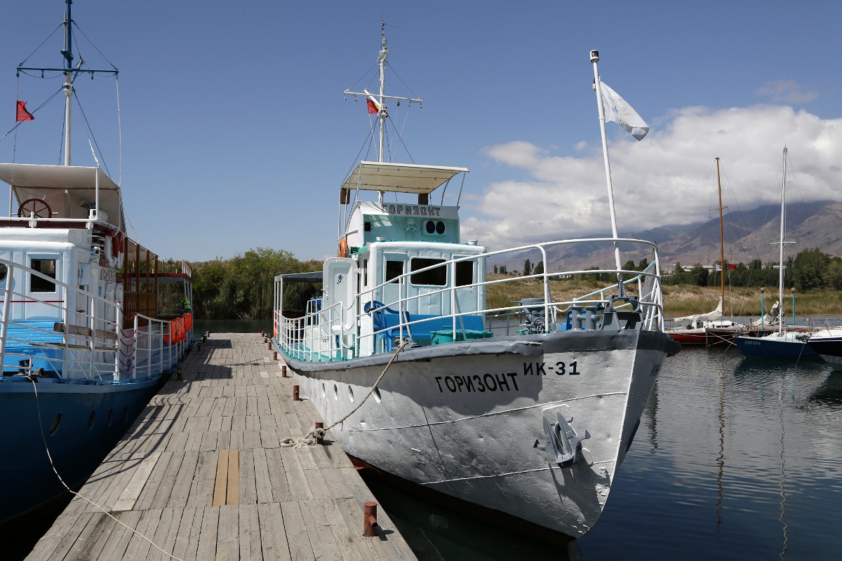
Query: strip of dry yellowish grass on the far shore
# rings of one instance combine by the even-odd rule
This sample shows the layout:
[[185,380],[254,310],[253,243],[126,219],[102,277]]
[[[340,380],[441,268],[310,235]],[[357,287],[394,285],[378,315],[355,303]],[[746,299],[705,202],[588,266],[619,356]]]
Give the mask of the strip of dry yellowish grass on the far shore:
[[[492,284],[488,288],[486,300],[489,308],[504,308],[515,300],[524,298],[541,298],[543,285],[538,279],[523,280],[508,275],[488,275],[489,280],[507,279],[508,282]],[[574,278],[570,280],[553,281],[551,283],[553,298],[557,301],[573,299],[582,294],[606,286],[608,283],[594,278]],[[714,287],[698,287],[689,284],[663,287],[664,315],[704,314],[715,310],[719,303],[721,290]],[[776,289],[765,290],[764,304],[768,312],[775,304],[778,294]],[[784,293],[784,310],[791,313],[791,289]],[[760,290],[759,288],[726,288],[725,315],[759,316]],[[842,292],[819,291],[805,294],[796,293],[796,312],[798,315],[842,315]]]

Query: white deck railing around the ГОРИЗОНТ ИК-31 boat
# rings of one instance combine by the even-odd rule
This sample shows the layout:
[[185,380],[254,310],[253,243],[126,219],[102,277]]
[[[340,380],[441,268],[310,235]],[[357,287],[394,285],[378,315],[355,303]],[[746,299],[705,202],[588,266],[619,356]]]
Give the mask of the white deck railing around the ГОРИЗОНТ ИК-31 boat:
[[[644,246],[651,249],[651,262],[643,271],[618,271],[616,269],[548,270],[546,266],[547,249],[549,248],[571,244],[614,242]],[[544,272],[453,286],[456,279],[457,263],[474,262],[473,271],[476,276],[478,272],[485,270],[484,265],[490,259],[506,261],[511,260],[513,256],[523,258],[524,254],[529,251],[538,251],[541,262],[544,263]],[[450,286],[442,288],[425,286],[423,294],[406,295],[407,287],[413,275],[428,272],[438,267],[449,268]],[[571,278],[598,279],[605,278],[605,276],[616,278],[618,282],[594,289],[588,294],[573,299],[556,298],[552,294],[554,284],[562,281]],[[485,295],[489,287],[500,288],[500,285],[503,285],[504,288],[507,283],[522,284],[524,280],[530,279],[535,279],[540,283],[536,290],[539,293],[536,294],[536,299],[542,300],[540,303],[518,301],[492,307],[485,304]],[[396,284],[397,299],[388,302],[376,300],[375,295],[386,294],[386,288],[392,287],[393,289]],[[622,286],[622,291],[619,289],[620,286]],[[626,298],[617,298],[618,295],[623,294],[627,294]],[[388,350],[389,347],[388,344],[378,346],[378,341],[381,341],[384,336],[392,337],[397,334],[397,339],[413,339],[413,325],[418,330],[422,324],[431,321],[429,315],[408,313],[407,310],[423,309],[423,306],[420,305],[421,299],[431,299],[437,296],[442,298],[442,301],[446,299],[449,302],[450,312],[437,315],[435,318],[436,324],[440,325],[442,329],[449,327],[454,340],[456,340],[459,332],[462,332],[462,336],[466,336],[465,324],[468,316],[472,316],[471,320],[474,323],[477,320],[476,316],[480,316],[484,331],[490,331],[493,334],[504,331],[505,335],[510,335],[509,319],[513,316],[534,318],[536,315],[540,315],[542,322],[535,325],[542,325],[542,332],[550,332],[565,329],[565,322],[571,316],[574,320],[579,320],[580,315],[582,318],[591,317],[606,309],[622,311],[632,310],[632,307],[642,313],[643,329],[663,331],[663,297],[657,246],[653,242],[642,240],[599,238],[552,241],[451,259],[405,273],[373,288],[367,288],[363,294],[358,294],[352,303],[338,302],[325,309],[316,309],[314,305],[308,304],[308,309],[305,310],[305,315],[302,317],[285,317],[282,315],[282,310],[275,310],[274,325],[277,331],[275,341],[280,349],[290,357],[310,362],[349,360],[354,357],[383,352]],[[276,295],[276,301],[282,301],[282,295]],[[368,304],[369,312],[365,312],[366,304]],[[376,310],[385,311],[386,308],[397,312],[397,323],[378,328],[371,318],[371,313]],[[573,314],[571,310],[577,312],[577,314]],[[506,319],[501,320],[502,318]],[[564,320],[561,323],[559,322],[560,318]],[[579,321],[578,328],[581,328],[581,325],[584,324]],[[520,327],[517,330],[518,332],[535,332],[532,331],[530,325],[518,325],[518,327]]]

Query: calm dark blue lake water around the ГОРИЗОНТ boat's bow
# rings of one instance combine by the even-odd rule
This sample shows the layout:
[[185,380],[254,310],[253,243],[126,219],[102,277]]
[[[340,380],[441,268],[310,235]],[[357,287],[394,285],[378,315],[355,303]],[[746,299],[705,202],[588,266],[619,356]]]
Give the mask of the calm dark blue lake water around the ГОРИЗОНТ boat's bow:
[[376,481],[418,558],[835,559],[842,373],[685,347],[667,359],[600,521],[567,550]]

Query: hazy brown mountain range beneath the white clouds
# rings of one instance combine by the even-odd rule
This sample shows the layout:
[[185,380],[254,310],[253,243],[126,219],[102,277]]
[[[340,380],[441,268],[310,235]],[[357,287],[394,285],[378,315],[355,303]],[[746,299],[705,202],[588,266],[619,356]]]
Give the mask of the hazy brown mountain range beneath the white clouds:
[[[722,216],[722,230],[727,262],[748,264],[760,259],[764,265],[778,262],[778,241],[781,239],[781,207],[766,204],[749,211],[733,211]],[[606,234],[605,237],[610,237]],[[719,260],[719,218],[690,225],[663,225],[651,230],[621,237],[655,241],[661,267],[671,270],[675,263],[685,269],[695,263],[713,265]],[[842,203],[818,201],[786,205],[786,256],[818,247],[831,256],[842,257]],[[650,259],[646,251],[621,245],[621,262],[639,263]],[[525,259],[532,265],[540,260],[537,251],[526,251],[505,262],[509,272],[522,271]],[[602,246],[576,244],[556,246],[547,250],[549,270],[577,270],[586,268],[614,268],[614,251],[610,244]]]

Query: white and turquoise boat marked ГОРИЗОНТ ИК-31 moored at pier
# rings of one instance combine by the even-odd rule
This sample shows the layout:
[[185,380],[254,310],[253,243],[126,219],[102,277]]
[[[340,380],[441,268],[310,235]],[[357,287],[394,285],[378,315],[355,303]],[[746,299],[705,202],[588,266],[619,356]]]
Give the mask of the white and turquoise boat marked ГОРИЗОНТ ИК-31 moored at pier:
[[[381,133],[387,102],[420,102],[384,94],[386,55],[384,38],[379,94],[346,91],[369,96]],[[275,278],[274,348],[354,461],[527,532],[584,534],[680,348],[663,333],[655,244],[616,232],[503,251],[461,241],[459,207],[435,197],[468,170],[382,161],[382,138],[380,161],[360,161],[339,187],[338,257]],[[651,251],[646,270],[555,270],[546,258],[620,243]],[[545,263],[527,277],[538,298],[489,306],[492,288],[524,277],[488,268],[526,251]],[[562,279],[600,274],[618,282],[554,294]],[[300,283],[317,288],[306,306]]]

